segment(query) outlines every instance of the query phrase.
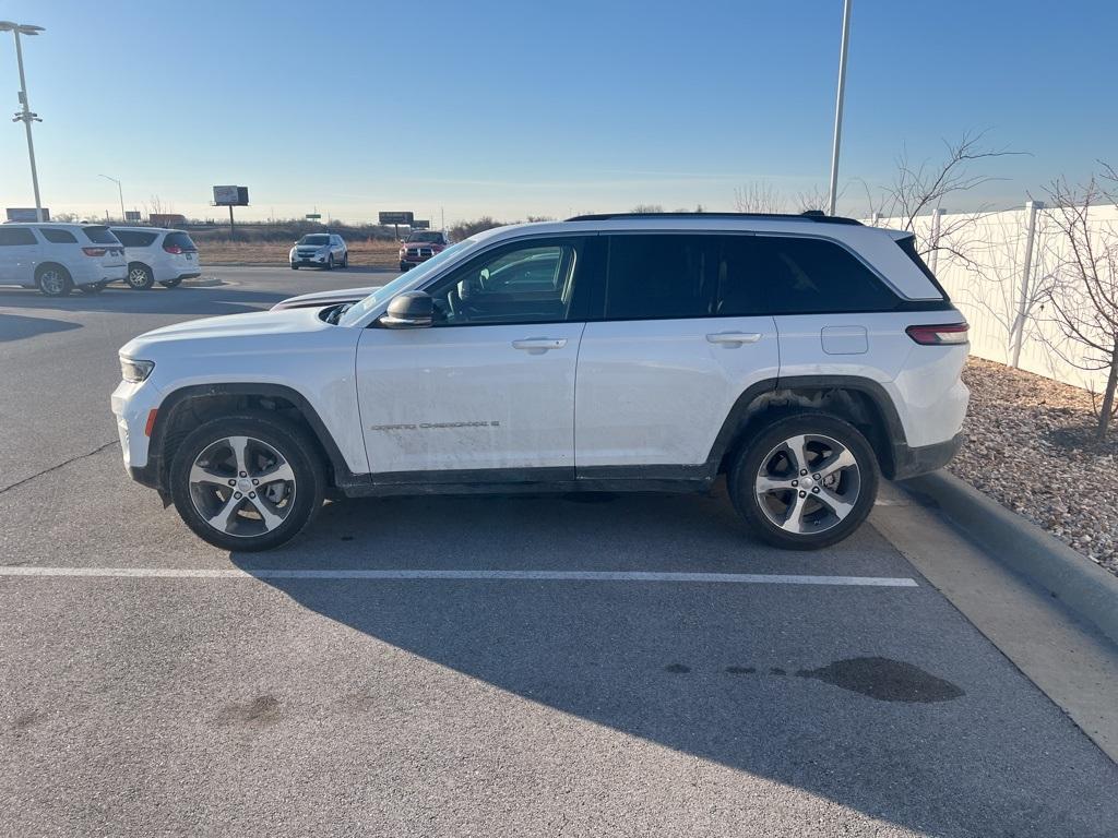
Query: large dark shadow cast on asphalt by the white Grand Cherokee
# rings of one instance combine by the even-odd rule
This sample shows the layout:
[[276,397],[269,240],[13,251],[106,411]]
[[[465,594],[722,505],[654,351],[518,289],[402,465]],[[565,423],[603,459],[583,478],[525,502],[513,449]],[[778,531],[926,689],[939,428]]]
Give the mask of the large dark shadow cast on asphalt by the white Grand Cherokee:
[[[837,552],[769,551],[717,496],[330,504],[288,547],[231,560],[249,573],[814,566],[913,574],[870,527]],[[923,582],[262,581],[527,701],[921,834],[1096,835],[1093,819],[1111,807],[1102,783],[1072,782],[1084,769],[1070,751],[1051,747],[1074,734],[1070,723]],[[1014,696],[1013,713],[1002,691]]]

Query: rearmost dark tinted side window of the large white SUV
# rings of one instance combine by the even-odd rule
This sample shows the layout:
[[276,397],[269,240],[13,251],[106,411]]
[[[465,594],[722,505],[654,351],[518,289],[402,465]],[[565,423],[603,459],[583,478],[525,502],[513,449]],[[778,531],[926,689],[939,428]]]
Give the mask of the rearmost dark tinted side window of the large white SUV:
[[899,301],[849,250],[823,239],[755,236],[757,276],[773,314],[887,312]]

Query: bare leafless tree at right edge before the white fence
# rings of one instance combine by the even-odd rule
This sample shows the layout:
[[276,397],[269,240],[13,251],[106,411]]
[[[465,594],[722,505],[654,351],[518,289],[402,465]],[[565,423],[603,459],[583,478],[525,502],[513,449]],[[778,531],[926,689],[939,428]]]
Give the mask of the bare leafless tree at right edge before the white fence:
[[[1063,258],[1057,268],[1058,280],[1048,294],[1053,320],[1068,342],[1078,351],[1069,352],[1050,342],[1064,361],[1080,370],[1107,372],[1101,403],[1096,412],[1096,438],[1106,439],[1110,422],[1118,413],[1118,229],[1114,221],[1098,216],[1105,204],[1118,208],[1115,170],[1103,164],[1103,174],[1092,175],[1087,184],[1071,187],[1064,179],[1048,188],[1052,202],[1052,222],[1060,236]],[[1092,212],[1092,208],[1095,212]]]

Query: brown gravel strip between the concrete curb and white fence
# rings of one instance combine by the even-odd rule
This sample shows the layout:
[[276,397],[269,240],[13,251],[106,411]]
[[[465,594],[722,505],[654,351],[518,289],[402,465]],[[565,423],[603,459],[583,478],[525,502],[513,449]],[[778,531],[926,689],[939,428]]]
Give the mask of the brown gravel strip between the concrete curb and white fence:
[[1092,438],[1086,390],[972,358],[957,477],[1118,575],[1118,428]]

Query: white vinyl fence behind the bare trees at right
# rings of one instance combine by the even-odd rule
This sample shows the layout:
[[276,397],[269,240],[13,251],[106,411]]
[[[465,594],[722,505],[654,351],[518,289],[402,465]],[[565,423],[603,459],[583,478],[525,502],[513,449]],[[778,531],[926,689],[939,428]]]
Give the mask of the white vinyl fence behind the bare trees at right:
[[[1005,212],[940,212],[918,219],[916,232],[927,241],[936,238],[934,226],[939,225],[939,240],[947,249],[926,258],[970,324],[970,354],[1099,392],[1106,370],[1078,369],[1083,347],[1067,340],[1044,299],[1044,289],[1067,258],[1067,241],[1053,222],[1055,211],[1027,203]],[[875,223],[901,226],[890,220]],[[1099,237],[1118,229],[1118,209],[1091,208],[1090,228]]]

